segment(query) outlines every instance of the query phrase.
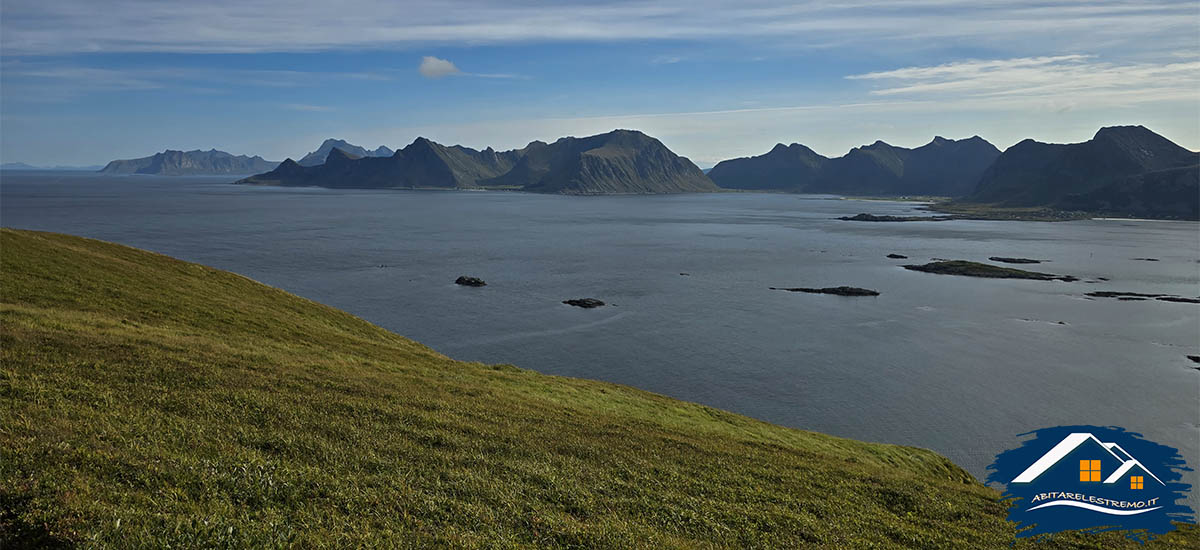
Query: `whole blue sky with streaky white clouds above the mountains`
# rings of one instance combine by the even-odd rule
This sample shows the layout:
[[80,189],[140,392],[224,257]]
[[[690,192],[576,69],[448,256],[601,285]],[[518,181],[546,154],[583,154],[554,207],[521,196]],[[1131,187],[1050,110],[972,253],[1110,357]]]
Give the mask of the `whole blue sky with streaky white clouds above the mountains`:
[[803,143],[1200,149],[1200,2],[4,0],[0,161],[635,128],[702,167]]

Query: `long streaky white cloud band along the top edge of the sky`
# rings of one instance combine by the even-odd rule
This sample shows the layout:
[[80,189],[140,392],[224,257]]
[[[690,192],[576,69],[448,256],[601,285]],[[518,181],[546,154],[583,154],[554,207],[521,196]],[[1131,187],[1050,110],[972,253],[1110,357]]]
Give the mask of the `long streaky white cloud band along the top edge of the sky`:
[[[973,47],[1021,36],[1079,49],[1140,47],[1146,37],[1195,46],[1195,2],[1087,4],[1058,0],[793,2],[662,0],[490,2],[484,0],[6,0],[7,55],[91,52],[320,52],[428,43],[744,38],[756,43]],[[146,24],[152,22],[152,24]],[[944,44],[943,44],[944,46]]]

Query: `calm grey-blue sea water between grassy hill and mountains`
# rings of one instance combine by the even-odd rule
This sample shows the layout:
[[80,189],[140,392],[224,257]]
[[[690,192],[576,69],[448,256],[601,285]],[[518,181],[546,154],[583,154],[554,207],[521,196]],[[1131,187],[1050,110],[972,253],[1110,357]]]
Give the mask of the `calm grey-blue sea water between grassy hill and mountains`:
[[[1194,222],[862,223],[912,204],[786,195],[559,197],[242,187],[5,173],[0,223],[236,271],[457,359],[598,378],[858,440],[977,477],[1016,435],[1118,425],[1200,466]],[[986,280],[904,261],[1043,258],[1109,282]],[[1159,262],[1133,258],[1153,257]],[[680,275],[686,273],[689,275]],[[485,288],[454,285],[458,275]],[[851,285],[877,298],[769,291]],[[611,307],[560,304],[595,297]],[[1195,482],[1193,482],[1195,483]]]

